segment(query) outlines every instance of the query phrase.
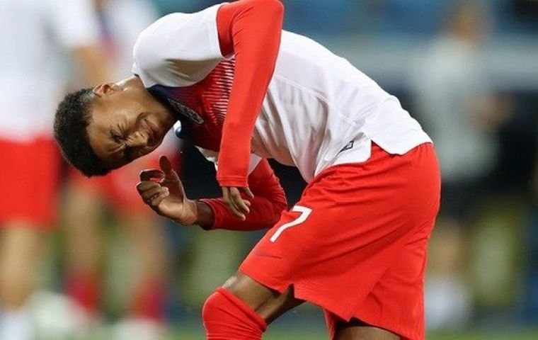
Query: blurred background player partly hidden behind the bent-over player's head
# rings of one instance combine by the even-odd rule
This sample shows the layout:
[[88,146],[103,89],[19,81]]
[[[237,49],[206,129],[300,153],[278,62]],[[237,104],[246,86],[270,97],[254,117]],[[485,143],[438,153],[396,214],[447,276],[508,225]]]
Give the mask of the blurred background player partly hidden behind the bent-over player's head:
[[[158,18],[156,9],[145,0],[93,2],[100,42],[106,52],[103,62],[112,65],[115,77],[127,77],[132,66],[132,46],[139,33]],[[161,339],[168,279],[166,230],[164,221],[142,203],[135,189],[139,172],[156,166],[159,154],[178,159],[173,135],[168,136],[156,154],[105,177],[88,179],[69,167],[63,207],[67,248],[65,292],[83,311],[79,320],[81,331],[84,327],[91,330],[101,319],[99,315],[106,307],[103,302],[108,295],[105,290],[119,285],[128,302],[125,319],[115,327],[115,339]],[[114,217],[110,217],[110,212]],[[108,241],[110,233],[103,231],[103,227],[110,225],[119,227],[126,240],[127,249],[121,254],[127,269],[119,268],[121,273],[118,268],[109,268],[110,259],[103,259],[106,254],[113,254],[105,251],[106,245],[118,248],[118,242]],[[120,280],[125,276],[127,280]]]

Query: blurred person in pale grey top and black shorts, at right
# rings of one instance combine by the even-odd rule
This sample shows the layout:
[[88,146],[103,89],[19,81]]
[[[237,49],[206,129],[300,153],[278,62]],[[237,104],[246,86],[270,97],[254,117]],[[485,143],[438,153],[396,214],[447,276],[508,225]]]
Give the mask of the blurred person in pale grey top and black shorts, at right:
[[442,171],[441,210],[426,282],[430,329],[471,321],[466,239],[496,165],[496,129],[505,118],[483,70],[488,23],[478,1],[454,1],[442,33],[420,50],[411,78],[418,116],[432,136]]

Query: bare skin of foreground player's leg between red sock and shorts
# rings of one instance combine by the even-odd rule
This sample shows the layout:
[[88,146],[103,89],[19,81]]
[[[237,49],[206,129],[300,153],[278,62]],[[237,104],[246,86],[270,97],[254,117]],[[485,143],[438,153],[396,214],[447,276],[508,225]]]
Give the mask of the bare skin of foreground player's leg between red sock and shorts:
[[234,276],[231,276],[224,283],[223,288],[239,297],[267,323],[273,322],[280,315],[304,302],[294,297],[291,286],[280,293],[256,282],[241,271],[237,271]]

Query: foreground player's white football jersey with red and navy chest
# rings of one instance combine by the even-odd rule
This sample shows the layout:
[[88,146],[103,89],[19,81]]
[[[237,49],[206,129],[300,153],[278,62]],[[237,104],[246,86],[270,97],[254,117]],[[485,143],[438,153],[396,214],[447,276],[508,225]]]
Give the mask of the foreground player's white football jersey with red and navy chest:
[[[178,112],[181,137],[214,152],[235,64],[234,55],[221,55],[219,6],[156,21],[139,36],[133,66],[151,94]],[[364,162],[372,142],[390,154],[404,154],[431,140],[398,99],[347,60],[282,30],[275,72],[253,132],[253,154],[297,166],[310,181],[328,166]]]

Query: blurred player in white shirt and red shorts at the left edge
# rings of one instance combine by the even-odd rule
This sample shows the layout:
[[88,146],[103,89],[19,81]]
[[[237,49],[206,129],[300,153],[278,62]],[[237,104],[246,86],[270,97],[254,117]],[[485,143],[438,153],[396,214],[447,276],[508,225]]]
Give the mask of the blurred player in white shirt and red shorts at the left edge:
[[0,339],[26,340],[26,309],[55,215],[59,154],[52,118],[69,55],[89,83],[106,81],[86,0],[0,1]]

